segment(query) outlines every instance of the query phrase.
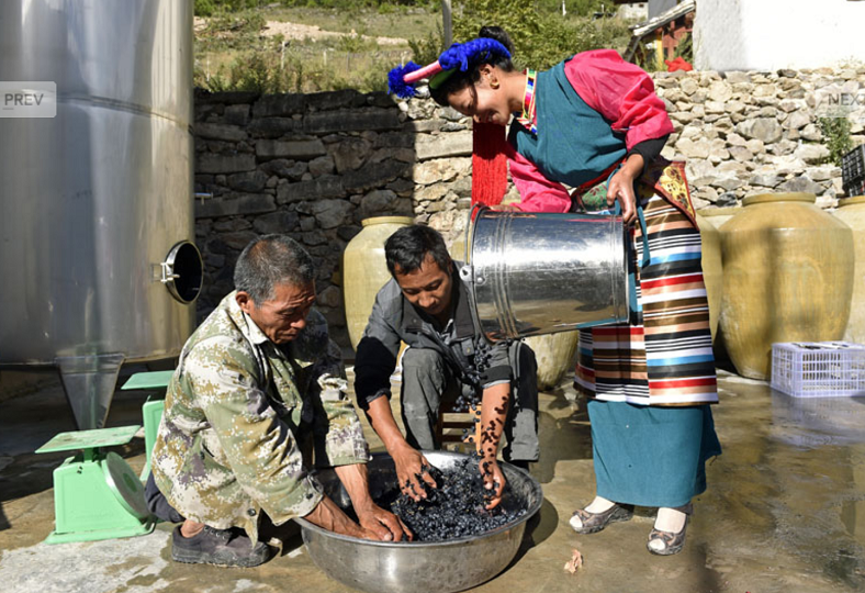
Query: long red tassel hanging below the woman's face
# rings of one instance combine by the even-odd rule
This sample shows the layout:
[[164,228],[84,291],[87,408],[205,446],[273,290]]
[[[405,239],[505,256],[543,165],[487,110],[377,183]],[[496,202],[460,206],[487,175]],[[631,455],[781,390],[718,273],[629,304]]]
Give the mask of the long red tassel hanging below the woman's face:
[[472,124],[472,204],[496,205],[507,191],[505,126]]

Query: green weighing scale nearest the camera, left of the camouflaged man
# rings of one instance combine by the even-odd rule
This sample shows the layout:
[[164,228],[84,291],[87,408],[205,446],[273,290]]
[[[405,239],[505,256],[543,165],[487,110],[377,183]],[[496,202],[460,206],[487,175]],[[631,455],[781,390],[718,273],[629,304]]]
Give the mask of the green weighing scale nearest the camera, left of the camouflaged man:
[[60,433],[37,454],[81,452],[54,470],[54,532],[46,544],[133,537],[153,532],[144,486],[117,454],[102,447],[125,445],[139,426]]

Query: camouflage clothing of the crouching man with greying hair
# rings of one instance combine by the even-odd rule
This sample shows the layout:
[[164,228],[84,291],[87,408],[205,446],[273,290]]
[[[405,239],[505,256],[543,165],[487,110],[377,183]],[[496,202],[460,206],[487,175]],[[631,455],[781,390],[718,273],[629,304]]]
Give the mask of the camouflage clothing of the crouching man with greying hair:
[[306,444],[322,467],[369,460],[339,350],[321,313],[306,323],[277,346],[232,292],[187,342],[151,456],[156,484],[187,518],[257,539],[261,510],[280,525],[322,500]]

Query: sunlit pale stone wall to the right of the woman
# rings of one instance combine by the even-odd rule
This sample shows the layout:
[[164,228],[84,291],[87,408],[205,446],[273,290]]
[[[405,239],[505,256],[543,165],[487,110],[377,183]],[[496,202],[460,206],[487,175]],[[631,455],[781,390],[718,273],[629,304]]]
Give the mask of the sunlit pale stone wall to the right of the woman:
[[841,169],[825,164],[818,116],[831,112],[835,98],[862,100],[850,119],[854,142],[865,143],[865,68],[654,78],[675,126],[663,154],[687,159],[697,209],[773,191],[811,192],[828,208],[842,195]]

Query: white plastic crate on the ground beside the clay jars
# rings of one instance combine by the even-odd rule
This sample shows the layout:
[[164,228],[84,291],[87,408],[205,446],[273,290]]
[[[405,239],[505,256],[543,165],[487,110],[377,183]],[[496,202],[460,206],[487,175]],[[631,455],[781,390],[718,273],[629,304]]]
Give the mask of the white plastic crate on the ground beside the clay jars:
[[794,398],[865,395],[865,346],[850,342],[773,344],[772,388]]

